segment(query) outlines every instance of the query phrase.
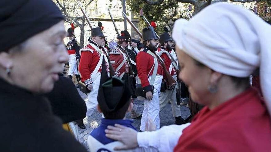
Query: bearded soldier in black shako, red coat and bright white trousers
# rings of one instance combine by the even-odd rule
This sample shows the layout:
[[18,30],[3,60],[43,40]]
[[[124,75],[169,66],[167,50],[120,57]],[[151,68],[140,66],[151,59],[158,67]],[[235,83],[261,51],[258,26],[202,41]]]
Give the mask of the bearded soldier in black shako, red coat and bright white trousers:
[[141,82],[144,96],[144,111],[142,114],[140,131],[145,131],[145,125],[148,119],[152,119],[156,129],[160,128],[159,118],[159,98],[161,82],[163,79],[163,70],[160,62],[155,55],[158,38],[155,35],[153,27],[147,27],[142,30],[144,47],[136,57],[136,68]]

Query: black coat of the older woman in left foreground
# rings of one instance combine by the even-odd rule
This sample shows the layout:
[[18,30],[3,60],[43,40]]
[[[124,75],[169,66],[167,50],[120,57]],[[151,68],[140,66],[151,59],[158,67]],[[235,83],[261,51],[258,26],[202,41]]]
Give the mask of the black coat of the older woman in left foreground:
[[48,99],[0,79],[0,151],[82,152],[53,115]]

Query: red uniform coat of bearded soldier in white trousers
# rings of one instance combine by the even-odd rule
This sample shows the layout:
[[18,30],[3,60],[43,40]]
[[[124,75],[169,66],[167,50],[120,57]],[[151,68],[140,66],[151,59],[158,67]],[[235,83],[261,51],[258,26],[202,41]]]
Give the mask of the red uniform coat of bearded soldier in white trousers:
[[[152,87],[150,86],[150,83],[148,80],[148,74],[150,73],[149,76],[152,76],[152,72],[153,72],[152,66],[154,64],[154,58],[152,55],[147,53],[148,51],[147,46],[144,46],[143,49],[144,50],[140,51],[136,56],[136,68],[137,68],[137,75],[141,80],[143,90],[145,92],[148,92],[148,91],[152,91]],[[158,61],[157,74],[163,75],[162,66],[159,61]]]

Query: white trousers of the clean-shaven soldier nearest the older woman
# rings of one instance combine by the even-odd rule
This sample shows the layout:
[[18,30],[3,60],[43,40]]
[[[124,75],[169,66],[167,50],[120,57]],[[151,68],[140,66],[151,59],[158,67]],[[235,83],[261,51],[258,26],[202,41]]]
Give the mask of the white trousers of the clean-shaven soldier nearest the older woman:
[[90,116],[93,111],[95,111],[97,109],[97,105],[98,105],[98,101],[97,101],[97,96],[98,96],[98,91],[99,91],[99,85],[100,85],[100,81],[101,81],[101,73],[98,72],[95,76],[95,80],[93,81],[93,90],[87,95],[87,116]]

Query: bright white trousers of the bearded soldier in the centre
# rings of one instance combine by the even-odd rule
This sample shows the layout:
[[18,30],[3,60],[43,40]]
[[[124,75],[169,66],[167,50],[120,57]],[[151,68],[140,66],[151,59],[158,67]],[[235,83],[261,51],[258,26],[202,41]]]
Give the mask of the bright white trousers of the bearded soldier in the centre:
[[[148,80],[151,80],[150,76]],[[142,113],[142,118],[141,118],[141,124],[140,124],[140,130],[145,131],[145,126],[146,122],[149,119],[152,119],[154,123],[156,124],[156,130],[160,128],[160,117],[159,117],[159,97],[158,97],[158,92],[160,91],[161,88],[161,82],[162,82],[163,76],[161,75],[156,75],[155,81],[154,81],[154,90],[153,90],[153,97],[152,100],[144,100],[144,110]]]

